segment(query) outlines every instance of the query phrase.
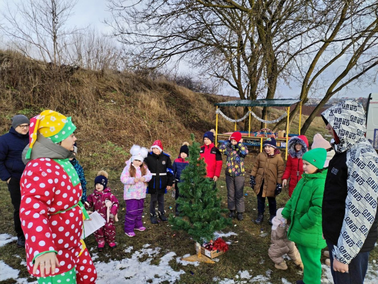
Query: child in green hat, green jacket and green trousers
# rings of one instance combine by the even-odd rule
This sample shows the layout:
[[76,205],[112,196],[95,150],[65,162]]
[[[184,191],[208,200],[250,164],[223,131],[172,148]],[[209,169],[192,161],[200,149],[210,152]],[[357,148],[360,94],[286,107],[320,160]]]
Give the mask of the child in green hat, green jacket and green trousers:
[[[327,169],[324,162],[327,151],[312,149],[303,154],[303,175],[282,211],[291,224],[287,238],[294,242],[303,262],[303,280],[296,284],[320,284],[321,250],[326,243],[322,237],[322,201]],[[281,221],[284,222],[285,220]]]

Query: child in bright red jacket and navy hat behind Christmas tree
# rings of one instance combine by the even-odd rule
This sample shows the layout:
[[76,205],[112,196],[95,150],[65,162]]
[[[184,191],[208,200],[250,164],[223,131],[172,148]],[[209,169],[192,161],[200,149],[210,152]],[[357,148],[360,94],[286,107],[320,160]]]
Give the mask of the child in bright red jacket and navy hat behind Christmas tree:
[[201,147],[199,155],[201,158],[205,159],[206,177],[209,177],[214,180],[214,182],[216,182],[220,176],[223,161],[222,154],[213,143],[214,133],[215,131],[213,129],[205,132],[205,134],[203,135],[204,145]]

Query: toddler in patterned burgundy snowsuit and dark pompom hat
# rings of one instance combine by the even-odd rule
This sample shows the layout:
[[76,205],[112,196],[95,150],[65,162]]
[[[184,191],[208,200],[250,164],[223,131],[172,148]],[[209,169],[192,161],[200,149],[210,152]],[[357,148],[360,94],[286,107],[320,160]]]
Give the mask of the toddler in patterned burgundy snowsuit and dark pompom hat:
[[[106,171],[99,171],[95,177],[95,191],[90,196],[88,196],[85,203],[86,209],[94,208],[102,218],[105,219],[106,223],[103,227],[95,231],[95,239],[98,244],[98,251],[102,251],[105,242],[108,243],[111,249],[114,249],[117,245],[115,240],[115,227],[114,219],[116,218],[118,212],[118,199],[111,193],[107,185],[108,174]],[[108,202],[111,202],[108,203]],[[108,204],[106,204],[108,203]],[[107,218],[107,208],[110,209],[109,218]]]

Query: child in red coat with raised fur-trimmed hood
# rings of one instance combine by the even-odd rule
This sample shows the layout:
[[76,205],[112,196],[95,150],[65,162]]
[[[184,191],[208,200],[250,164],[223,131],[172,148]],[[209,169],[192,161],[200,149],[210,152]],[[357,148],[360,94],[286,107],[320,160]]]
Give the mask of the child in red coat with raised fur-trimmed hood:
[[290,138],[287,151],[288,157],[286,162],[285,172],[282,177],[282,186],[287,184],[287,179],[289,180],[289,197],[298,183],[299,179],[302,178],[303,173],[303,162],[302,156],[308,150],[308,141],[304,135],[294,136]]

